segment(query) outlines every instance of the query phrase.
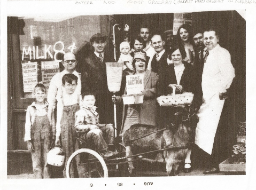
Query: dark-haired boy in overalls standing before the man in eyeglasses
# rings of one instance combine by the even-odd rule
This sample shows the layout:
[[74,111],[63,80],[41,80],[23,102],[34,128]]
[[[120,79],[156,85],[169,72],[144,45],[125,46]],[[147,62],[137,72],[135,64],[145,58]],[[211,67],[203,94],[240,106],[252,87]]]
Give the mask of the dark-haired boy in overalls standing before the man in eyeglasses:
[[[62,78],[61,96],[58,100],[57,122],[56,122],[56,141],[55,145],[61,144],[65,152],[65,166],[63,177],[66,178],[66,165],[69,156],[75,151],[75,113],[80,109],[80,95],[75,91],[77,86],[77,76],[72,73],[65,74]],[[76,173],[75,164],[71,164],[71,178],[74,178]]]

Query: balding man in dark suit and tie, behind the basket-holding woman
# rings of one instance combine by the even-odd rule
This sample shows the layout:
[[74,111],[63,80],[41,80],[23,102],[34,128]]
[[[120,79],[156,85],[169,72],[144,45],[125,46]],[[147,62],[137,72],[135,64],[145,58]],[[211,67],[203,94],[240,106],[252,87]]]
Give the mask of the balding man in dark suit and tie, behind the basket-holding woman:
[[154,35],[151,38],[151,45],[157,52],[151,62],[151,71],[160,75],[161,70],[165,70],[168,66],[168,53],[164,49],[165,41],[162,40],[161,35]]

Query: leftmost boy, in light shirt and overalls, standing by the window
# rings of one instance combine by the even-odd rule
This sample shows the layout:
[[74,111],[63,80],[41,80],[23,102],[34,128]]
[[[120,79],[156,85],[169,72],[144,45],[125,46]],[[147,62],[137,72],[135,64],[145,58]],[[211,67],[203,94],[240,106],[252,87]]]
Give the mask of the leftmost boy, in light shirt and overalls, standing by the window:
[[53,114],[48,116],[45,86],[36,84],[34,93],[36,101],[27,108],[24,140],[32,155],[34,178],[50,178],[47,154],[55,140],[55,119]]

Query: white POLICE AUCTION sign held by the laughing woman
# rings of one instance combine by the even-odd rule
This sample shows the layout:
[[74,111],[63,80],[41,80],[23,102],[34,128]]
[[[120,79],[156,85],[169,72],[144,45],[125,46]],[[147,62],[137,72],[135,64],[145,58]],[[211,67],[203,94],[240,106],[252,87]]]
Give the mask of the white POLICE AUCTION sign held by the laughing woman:
[[143,75],[127,75],[126,76],[126,92],[127,94],[139,94],[144,90]]

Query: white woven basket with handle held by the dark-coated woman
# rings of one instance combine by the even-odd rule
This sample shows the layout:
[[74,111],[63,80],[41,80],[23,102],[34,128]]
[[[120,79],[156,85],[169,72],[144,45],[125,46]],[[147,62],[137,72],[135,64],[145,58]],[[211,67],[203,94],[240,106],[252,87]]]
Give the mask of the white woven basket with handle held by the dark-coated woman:
[[194,94],[191,92],[175,94],[175,88],[173,88],[173,94],[171,96],[160,96],[157,98],[157,102],[160,106],[190,105],[193,97]]

